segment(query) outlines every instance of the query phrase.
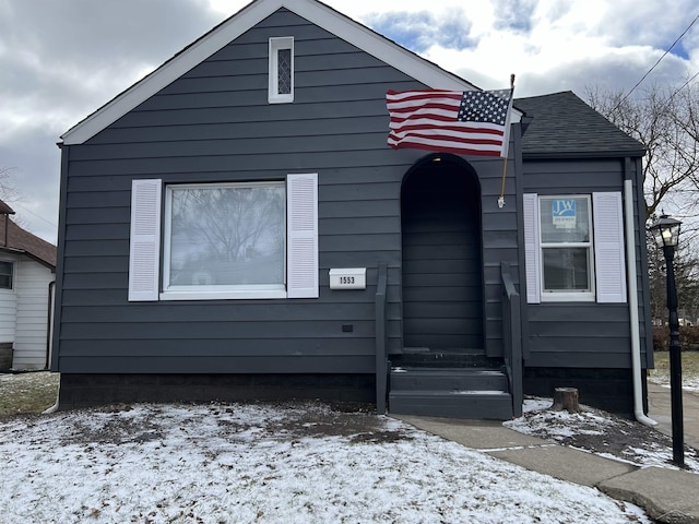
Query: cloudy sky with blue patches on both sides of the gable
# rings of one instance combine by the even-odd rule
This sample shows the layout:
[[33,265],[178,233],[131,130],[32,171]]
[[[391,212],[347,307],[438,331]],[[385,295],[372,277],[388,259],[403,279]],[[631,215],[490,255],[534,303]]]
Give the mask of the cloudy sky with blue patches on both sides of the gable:
[[[0,0],[0,171],[21,224],[56,242],[60,135],[247,0]],[[696,0],[325,0],[486,90],[628,92],[699,15]],[[699,22],[636,93],[699,72]],[[696,80],[699,81],[699,80]]]

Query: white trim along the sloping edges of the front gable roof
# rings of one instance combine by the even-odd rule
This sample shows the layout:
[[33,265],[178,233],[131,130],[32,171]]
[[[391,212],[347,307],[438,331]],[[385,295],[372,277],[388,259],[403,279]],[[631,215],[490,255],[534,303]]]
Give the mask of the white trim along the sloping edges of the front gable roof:
[[[74,145],[90,140],[280,8],[288,9],[431,88],[477,90],[465,80],[419,58],[317,0],[254,0],[151,74],[73,126],[61,136],[63,143]],[[520,111],[513,109],[512,122],[519,121],[520,116]]]

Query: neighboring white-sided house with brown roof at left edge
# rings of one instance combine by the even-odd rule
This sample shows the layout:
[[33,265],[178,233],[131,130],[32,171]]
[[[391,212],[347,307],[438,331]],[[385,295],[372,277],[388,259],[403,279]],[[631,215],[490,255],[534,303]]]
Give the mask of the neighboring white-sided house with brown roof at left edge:
[[16,225],[0,201],[0,369],[49,366],[56,247]]

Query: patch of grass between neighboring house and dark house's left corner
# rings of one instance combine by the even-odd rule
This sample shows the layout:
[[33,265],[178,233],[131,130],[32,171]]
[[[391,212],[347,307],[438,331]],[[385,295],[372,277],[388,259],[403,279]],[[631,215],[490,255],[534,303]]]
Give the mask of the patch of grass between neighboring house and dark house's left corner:
[[0,416],[42,413],[56,403],[59,373],[0,374]]

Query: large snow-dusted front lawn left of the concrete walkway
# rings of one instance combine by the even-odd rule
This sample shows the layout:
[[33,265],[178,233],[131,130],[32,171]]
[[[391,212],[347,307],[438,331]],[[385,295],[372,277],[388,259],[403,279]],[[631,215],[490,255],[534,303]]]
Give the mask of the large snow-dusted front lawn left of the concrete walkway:
[[0,419],[0,508],[5,523],[650,522],[594,489],[317,403]]

